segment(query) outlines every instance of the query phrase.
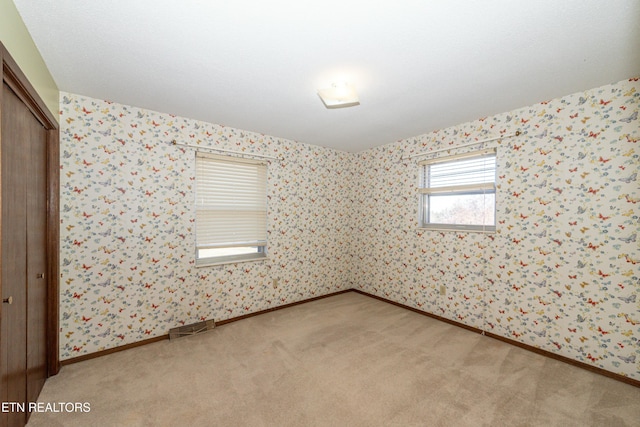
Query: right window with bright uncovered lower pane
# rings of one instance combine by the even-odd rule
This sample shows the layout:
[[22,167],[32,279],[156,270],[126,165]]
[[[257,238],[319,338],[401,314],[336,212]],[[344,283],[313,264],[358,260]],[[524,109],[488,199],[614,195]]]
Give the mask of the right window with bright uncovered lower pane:
[[495,149],[420,162],[420,226],[495,231]]

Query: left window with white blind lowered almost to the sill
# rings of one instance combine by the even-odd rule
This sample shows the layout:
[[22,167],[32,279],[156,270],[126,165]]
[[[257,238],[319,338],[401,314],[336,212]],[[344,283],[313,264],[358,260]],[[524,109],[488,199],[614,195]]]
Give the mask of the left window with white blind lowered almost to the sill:
[[196,265],[265,258],[267,165],[196,154]]

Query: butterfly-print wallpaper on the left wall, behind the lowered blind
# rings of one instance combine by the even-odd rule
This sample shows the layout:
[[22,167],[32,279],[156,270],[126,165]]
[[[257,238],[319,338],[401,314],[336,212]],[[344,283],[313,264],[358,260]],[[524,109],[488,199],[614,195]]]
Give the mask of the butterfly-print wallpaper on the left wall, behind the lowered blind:
[[[60,109],[61,360],[351,287],[348,153],[69,93]],[[268,260],[195,267],[195,151],[173,140],[284,159]]]

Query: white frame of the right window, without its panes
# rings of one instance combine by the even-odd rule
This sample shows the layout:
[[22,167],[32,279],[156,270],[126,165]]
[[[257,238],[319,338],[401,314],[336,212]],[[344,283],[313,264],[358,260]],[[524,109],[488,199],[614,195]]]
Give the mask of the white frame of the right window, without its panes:
[[[458,161],[468,161],[480,158],[495,158],[495,167],[493,170],[492,182],[476,182],[463,185],[450,185],[441,187],[430,187],[429,174],[430,167],[432,165],[441,165],[446,163],[454,163]],[[441,231],[465,231],[465,232],[480,232],[480,233],[495,233],[496,231],[496,213],[497,213],[497,198],[496,198],[496,177],[497,177],[497,150],[495,148],[489,148],[484,150],[472,151],[464,154],[458,154],[446,157],[436,157],[419,162],[420,165],[420,182],[418,185],[418,191],[420,193],[419,203],[419,228]],[[487,224],[447,224],[447,223],[435,223],[430,222],[430,209],[429,203],[432,196],[469,196],[478,194],[493,194],[493,225]]]

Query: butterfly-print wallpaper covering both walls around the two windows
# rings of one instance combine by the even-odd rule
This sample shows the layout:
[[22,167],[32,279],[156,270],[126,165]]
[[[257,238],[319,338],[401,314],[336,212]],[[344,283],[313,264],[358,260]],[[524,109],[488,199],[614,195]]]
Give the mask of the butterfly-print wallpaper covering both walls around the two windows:
[[[639,86],[357,154],[62,93],[61,358],[355,288],[640,379]],[[496,232],[419,229],[403,158],[516,130],[486,144]],[[194,152],[172,140],[283,158],[268,260],[195,268]]]

